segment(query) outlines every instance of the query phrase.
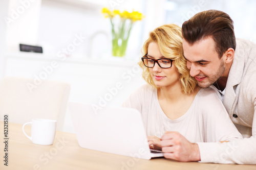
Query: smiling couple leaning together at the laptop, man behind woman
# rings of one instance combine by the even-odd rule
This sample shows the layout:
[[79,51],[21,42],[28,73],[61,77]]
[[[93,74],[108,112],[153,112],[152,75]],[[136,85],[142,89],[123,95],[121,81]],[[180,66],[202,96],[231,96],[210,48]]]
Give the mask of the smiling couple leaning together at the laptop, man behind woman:
[[149,85],[123,106],[141,112],[151,147],[184,162],[256,164],[256,44],[236,40],[232,19],[200,12],[182,29],[155,29],[143,50]]

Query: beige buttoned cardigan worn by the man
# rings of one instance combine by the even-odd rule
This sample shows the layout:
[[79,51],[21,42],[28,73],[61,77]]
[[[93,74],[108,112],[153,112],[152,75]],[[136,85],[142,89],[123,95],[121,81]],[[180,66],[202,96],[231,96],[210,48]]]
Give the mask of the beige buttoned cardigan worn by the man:
[[[220,93],[219,97],[222,99]],[[256,116],[253,117],[256,113],[255,43],[237,39],[223,104],[240,133],[251,137],[228,143],[198,143],[201,162],[256,164]]]

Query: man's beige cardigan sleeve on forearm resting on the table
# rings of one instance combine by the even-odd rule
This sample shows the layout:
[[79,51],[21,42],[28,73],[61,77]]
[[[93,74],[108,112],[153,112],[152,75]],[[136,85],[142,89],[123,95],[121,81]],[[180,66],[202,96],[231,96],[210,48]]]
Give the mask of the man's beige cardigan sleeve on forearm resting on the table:
[[230,142],[197,143],[203,163],[256,164],[256,99],[254,98],[252,136]]

